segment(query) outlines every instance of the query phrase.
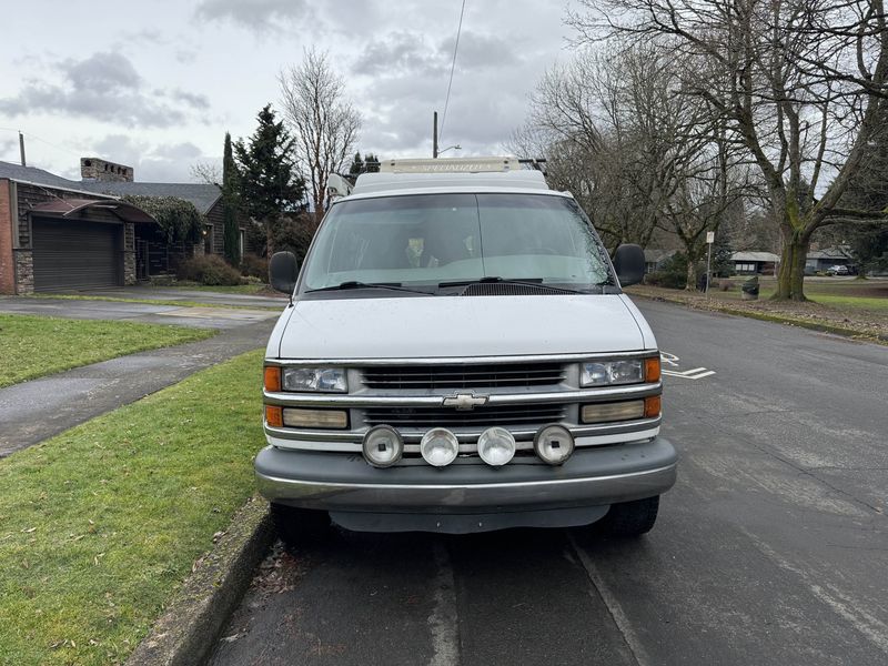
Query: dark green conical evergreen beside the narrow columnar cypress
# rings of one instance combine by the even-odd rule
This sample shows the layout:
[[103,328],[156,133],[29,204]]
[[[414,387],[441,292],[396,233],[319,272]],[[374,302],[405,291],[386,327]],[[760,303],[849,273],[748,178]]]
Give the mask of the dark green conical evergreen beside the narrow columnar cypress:
[[275,121],[271,104],[256,117],[259,127],[245,142],[234,144],[240,168],[243,211],[265,229],[266,251],[274,252],[274,225],[283,212],[305,206],[305,181],[293,161],[293,138],[283,121]]

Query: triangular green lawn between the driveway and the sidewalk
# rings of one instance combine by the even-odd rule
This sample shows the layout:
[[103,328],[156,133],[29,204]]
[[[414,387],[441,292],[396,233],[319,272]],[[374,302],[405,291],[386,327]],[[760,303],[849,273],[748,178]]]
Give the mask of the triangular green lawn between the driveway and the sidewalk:
[[0,387],[213,334],[161,324],[0,314]]

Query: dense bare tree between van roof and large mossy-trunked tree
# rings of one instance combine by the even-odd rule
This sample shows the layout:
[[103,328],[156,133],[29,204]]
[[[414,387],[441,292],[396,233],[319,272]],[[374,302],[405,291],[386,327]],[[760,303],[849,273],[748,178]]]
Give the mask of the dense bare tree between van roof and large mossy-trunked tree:
[[682,62],[643,44],[587,50],[551,70],[513,148],[546,145],[549,182],[571,190],[608,248],[646,246],[657,229],[688,258],[688,289],[716,231],[743,196],[743,169],[708,103],[680,95]]

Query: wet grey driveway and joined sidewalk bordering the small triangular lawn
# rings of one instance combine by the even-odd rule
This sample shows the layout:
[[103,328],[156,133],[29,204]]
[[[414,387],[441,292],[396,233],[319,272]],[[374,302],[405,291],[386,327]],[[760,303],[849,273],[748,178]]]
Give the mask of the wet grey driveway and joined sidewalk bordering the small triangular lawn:
[[[145,297],[145,292],[138,293],[138,296],[128,297]],[[213,296],[206,297],[211,300]],[[250,304],[256,309],[0,297],[0,312],[179,324],[220,331],[209,340],[120,356],[0,390],[0,457],[175,384],[199,370],[264,347],[286,301],[258,296],[235,300],[240,305]],[[271,310],[270,305],[280,306],[280,310]],[[258,367],[256,390],[260,384],[261,369]],[[34,417],[36,410],[39,418]]]

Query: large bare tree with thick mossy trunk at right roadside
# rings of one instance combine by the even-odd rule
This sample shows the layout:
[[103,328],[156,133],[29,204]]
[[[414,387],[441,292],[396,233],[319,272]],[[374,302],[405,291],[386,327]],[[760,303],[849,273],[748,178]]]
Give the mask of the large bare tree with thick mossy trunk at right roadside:
[[886,107],[882,0],[578,2],[568,20],[579,42],[669,48],[689,64],[682,93],[705,99],[745,147],[783,238],[776,299],[805,300],[817,229],[885,218],[842,206]]

